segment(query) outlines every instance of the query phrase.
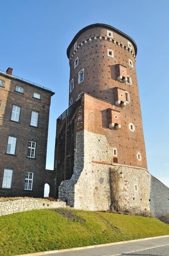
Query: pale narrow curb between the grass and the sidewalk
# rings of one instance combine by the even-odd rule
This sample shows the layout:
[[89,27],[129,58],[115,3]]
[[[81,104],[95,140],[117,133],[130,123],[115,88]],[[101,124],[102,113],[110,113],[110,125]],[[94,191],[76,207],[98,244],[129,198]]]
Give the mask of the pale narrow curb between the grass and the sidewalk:
[[[44,255],[44,254],[63,253],[63,252],[69,252],[69,251],[73,251],[73,250],[83,250],[83,249],[103,247],[103,246],[109,246],[109,245],[115,245],[115,244],[125,244],[125,243],[130,243],[130,242],[144,241],[144,240],[163,238],[163,237],[169,237],[169,235],[147,237],[147,238],[142,238],[142,239],[121,241],[121,242],[115,242],[115,243],[109,243],[109,244],[97,244],[97,245],[90,245],[90,246],[76,247],[76,248],[69,248],[69,249],[62,249],[62,250],[51,250],[51,251],[45,251],[45,252],[39,252],[39,253],[27,253],[27,254],[15,255],[15,256],[40,256],[40,255]],[[121,255],[121,254],[116,254],[116,255]]]

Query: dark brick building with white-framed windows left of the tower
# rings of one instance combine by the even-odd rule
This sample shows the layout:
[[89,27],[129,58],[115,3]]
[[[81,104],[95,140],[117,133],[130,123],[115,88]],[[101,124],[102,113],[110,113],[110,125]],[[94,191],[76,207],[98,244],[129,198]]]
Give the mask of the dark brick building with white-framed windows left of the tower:
[[43,197],[51,96],[45,87],[0,72],[0,196]]

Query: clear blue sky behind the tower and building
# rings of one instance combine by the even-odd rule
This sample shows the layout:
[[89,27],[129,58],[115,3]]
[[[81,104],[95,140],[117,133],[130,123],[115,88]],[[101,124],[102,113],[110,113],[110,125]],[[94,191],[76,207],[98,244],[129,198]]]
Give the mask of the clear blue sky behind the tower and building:
[[47,169],[53,169],[56,118],[68,108],[66,50],[92,23],[123,31],[138,46],[136,70],[149,172],[169,186],[169,1],[1,0],[0,70],[51,88]]

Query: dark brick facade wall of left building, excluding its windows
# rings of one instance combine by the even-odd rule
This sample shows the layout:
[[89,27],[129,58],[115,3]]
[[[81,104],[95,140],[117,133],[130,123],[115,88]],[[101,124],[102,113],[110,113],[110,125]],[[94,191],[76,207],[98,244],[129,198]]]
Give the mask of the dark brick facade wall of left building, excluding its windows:
[[[0,87],[0,196],[43,197],[51,93],[3,74],[0,80],[5,81]],[[14,91],[16,85],[24,94]],[[33,98],[34,92],[41,100]],[[21,107],[19,123],[9,121],[12,105]],[[29,126],[31,111],[39,112],[38,128]],[[8,136],[17,137],[16,156],[6,154]],[[26,158],[29,140],[36,142],[36,159]],[[2,189],[4,169],[13,170],[11,189]],[[32,191],[24,191],[25,172],[34,173]]]

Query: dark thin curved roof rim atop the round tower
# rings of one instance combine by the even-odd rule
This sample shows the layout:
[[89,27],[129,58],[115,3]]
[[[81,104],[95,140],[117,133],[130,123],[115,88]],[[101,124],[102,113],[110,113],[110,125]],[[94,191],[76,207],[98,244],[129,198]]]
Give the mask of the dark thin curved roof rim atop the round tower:
[[123,36],[124,38],[126,38],[127,40],[129,40],[133,44],[134,49],[135,49],[135,56],[137,55],[137,45],[136,45],[135,41],[132,38],[130,38],[130,36],[124,34],[123,32],[121,32],[120,30],[114,28],[113,26],[110,26],[110,25],[107,25],[107,24],[103,24],[103,23],[95,23],[95,24],[91,24],[89,26],[85,26],[83,29],[81,29],[74,36],[73,40],[71,41],[71,43],[69,44],[68,49],[67,49],[67,56],[68,56],[68,58],[69,58],[70,49],[71,49],[72,45],[76,42],[76,40],[79,37],[79,35],[81,35],[85,30],[90,29],[92,27],[104,27],[106,29],[111,29],[111,30],[117,32],[119,35]]

